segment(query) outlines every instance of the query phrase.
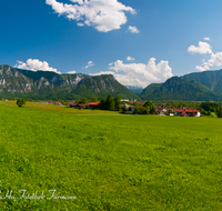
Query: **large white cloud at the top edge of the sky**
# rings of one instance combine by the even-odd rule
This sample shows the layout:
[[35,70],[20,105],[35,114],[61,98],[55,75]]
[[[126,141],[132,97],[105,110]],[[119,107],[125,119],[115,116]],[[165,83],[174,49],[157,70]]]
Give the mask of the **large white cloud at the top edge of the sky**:
[[57,0],[46,0],[46,3],[68,19],[78,21],[78,26],[92,26],[100,32],[120,29],[128,19],[125,12],[135,14],[135,10],[118,0],[70,0],[72,3],[61,3]]

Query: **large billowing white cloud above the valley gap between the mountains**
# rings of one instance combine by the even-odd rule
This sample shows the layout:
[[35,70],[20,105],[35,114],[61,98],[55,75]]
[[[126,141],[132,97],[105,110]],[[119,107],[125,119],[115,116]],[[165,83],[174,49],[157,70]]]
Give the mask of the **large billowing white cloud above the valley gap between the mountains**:
[[[107,72],[99,72],[98,74],[113,74],[114,78],[124,86],[147,87],[152,82],[163,82],[171,78],[172,69],[168,61],[160,61],[155,63],[155,58],[151,58],[148,63],[130,63],[125,64],[121,60],[117,60],[113,67],[110,67]],[[124,74],[119,73],[123,71]],[[93,76],[95,76],[93,74]]]

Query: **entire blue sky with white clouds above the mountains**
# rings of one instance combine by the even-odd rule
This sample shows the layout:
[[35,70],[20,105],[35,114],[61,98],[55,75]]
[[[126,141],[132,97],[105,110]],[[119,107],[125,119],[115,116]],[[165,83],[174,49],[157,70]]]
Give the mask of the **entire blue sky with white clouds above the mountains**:
[[10,0],[0,6],[0,63],[112,73],[139,87],[222,68],[220,0]]

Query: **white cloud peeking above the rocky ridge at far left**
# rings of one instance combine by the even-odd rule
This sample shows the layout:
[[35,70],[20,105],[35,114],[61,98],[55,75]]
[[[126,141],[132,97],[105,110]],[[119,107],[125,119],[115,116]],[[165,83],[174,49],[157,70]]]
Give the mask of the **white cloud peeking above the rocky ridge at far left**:
[[32,70],[32,71],[42,70],[42,71],[51,71],[51,72],[61,73],[57,71],[57,69],[50,68],[47,61],[42,62],[42,61],[39,61],[38,59],[28,59],[27,62],[22,62],[22,61],[17,61],[17,62],[18,63],[14,66],[14,68],[18,68],[18,69]]

